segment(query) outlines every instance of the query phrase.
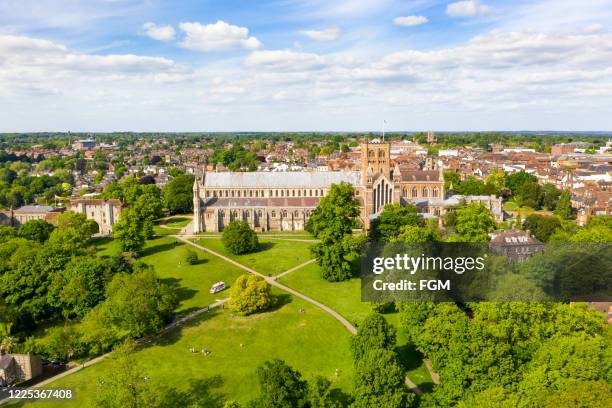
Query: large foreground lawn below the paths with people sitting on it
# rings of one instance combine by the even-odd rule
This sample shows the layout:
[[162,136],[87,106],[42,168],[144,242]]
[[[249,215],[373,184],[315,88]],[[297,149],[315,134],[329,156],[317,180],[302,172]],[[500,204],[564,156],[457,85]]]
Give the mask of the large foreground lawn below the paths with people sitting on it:
[[[333,381],[334,388],[350,392],[348,331],[327,313],[298,298],[280,294],[279,303],[277,310],[248,317],[232,318],[227,311],[213,311],[187,327],[175,329],[135,354],[141,372],[153,384],[182,392],[207,388],[219,400],[236,399],[244,405],[258,394],[256,368],[266,360],[281,358],[306,379],[321,374]],[[299,313],[299,308],[305,313]],[[206,347],[212,353],[192,354],[190,347]],[[49,386],[72,388],[74,400],[27,406],[88,406],[109,363],[104,360]]]

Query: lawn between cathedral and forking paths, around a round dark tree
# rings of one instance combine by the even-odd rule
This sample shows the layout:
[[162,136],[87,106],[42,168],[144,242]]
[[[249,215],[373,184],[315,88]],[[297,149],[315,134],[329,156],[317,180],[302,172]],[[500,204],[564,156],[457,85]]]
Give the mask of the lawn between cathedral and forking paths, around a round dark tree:
[[278,275],[311,259],[308,242],[283,241],[259,237],[261,249],[252,254],[232,255],[223,246],[221,238],[201,238],[199,245],[212,249],[263,274]]

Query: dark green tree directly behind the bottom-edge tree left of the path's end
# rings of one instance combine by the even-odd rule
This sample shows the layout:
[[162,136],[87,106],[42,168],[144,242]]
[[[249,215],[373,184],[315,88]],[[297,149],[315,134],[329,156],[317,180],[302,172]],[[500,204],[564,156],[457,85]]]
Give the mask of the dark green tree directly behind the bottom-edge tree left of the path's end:
[[358,361],[373,349],[393,350],[396,344],[395,328],[378,313],[369,314],[357,328],[351,339],[354,361]]

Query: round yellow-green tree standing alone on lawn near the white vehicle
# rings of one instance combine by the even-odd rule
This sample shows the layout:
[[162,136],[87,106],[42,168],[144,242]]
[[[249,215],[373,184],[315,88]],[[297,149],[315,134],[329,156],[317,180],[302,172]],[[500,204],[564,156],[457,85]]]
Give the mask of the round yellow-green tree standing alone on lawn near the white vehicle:
[[269,308],[274,299],[270,284],[257,275],[245,274],[231,287],[228,306],[241,315],[249,315]]

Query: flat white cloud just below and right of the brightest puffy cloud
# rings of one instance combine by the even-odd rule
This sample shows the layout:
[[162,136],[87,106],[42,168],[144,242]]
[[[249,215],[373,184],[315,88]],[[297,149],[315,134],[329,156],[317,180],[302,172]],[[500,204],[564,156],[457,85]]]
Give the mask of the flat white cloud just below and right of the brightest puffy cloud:
[[320,55],[290,50],[254,51],[245,63],[250,67],[280,72],[312,71],[326,66]]

